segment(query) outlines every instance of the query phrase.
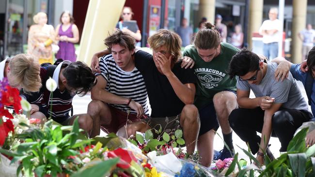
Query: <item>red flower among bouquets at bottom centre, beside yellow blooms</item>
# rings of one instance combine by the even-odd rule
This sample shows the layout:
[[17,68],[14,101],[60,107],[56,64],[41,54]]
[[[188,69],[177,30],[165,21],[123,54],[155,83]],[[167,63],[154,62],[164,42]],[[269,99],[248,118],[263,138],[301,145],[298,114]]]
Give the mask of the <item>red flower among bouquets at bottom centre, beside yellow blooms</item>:
[[117,163],[117,167],[119,168],[123,168],[123,169],[128,169],[130,168],[130,162],[131,161],[135,161],[137,162],[137,159],[136,157],[132,154],[132,152],[128,151],[128,150],[125,150],[125,149],[122,149],[122,148],[118,148],[118,149],[115,149],[113,151],[110,151],[108,153],[108,157],[109,158],[116,158],[116,157],[119,157],[120,160],[119,162]]

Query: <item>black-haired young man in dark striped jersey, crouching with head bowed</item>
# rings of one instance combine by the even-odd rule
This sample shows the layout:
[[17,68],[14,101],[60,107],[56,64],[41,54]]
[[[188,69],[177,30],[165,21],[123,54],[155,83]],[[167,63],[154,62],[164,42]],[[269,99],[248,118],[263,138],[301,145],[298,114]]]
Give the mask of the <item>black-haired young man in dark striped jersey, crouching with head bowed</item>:
[[[85,95],[95,85],[95,76],[90,67],[81,61],[70,62],[65,60],[58,65],[48,65],[40,68],[43,87],[39,92],[26,94],[27,100],[32,104],[31,117],[51,117],[62,125],[72,125],[79,117],[81,129],[90,133],[93,128],[92,118],[88,114],[79,114],[70,117],[73,97],[78,93]],[[52,93],[46,88],[46,81],[51,77],[57,83]],[[52,105],[52,110],[50,110]]]

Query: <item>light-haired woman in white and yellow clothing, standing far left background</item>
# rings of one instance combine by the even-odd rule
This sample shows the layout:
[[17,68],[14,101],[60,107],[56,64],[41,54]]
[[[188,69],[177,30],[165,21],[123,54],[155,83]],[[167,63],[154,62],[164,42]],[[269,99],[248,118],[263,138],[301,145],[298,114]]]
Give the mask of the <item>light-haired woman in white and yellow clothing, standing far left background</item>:
[[51,44],[54,43],[55,29],[47,25],[47,15],[44,12],[34,15],[33,21],[35,24],[29,30],[27,53],[39,64],[53,63]]

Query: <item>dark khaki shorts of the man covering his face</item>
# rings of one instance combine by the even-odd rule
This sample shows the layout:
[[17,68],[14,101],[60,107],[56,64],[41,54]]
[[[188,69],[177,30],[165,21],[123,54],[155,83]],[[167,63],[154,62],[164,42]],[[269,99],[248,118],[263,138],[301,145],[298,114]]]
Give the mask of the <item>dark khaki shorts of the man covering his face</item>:
[[[158,131],[161,127],[162,133],[174,133],[178,129],[182,130],[182,127],[179,123],[179,117],[180,115],[166,118],[145,118],[141,121],[145,122],[148,126],[150,126],[151,129],[155,129]],[[154,134],[154,138],[157,138],[159,135],[154,130],[152,131],[152,133]]]

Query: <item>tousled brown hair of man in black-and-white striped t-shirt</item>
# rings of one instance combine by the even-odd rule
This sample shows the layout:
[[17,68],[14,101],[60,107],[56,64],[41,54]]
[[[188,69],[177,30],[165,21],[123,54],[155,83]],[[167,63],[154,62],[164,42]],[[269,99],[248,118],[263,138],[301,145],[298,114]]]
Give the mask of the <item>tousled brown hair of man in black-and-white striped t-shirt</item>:
[[111,47],[114,44],[119,44],[120,46],[126,47],[129,51],[135,49],[136,40],[128,33],[116,29],[115,32],[109,35],[105,40],[104,44],[108,47],[111,52]]

